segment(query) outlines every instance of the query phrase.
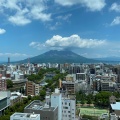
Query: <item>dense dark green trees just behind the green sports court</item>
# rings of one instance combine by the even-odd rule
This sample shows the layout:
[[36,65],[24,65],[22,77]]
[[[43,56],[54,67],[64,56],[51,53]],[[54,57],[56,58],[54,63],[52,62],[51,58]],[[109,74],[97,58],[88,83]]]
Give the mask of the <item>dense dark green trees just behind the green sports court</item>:
[[76,102],[79,102],[80,104],[94,104],[94,106],[104,108],[109,106],[109,97],[111,95],[114,95],[116,98],[120,98],[119,92],[100,91],[95,95],[86,95],[84,92],[79,91],[76,93]]

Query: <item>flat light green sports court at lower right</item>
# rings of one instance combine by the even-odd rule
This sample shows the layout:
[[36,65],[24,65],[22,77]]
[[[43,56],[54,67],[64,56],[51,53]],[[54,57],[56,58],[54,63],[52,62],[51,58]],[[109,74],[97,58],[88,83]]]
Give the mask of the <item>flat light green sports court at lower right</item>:
[[79,108],[81,115],[100,116],[102,113],[108,113],[107,109],[99,108]]

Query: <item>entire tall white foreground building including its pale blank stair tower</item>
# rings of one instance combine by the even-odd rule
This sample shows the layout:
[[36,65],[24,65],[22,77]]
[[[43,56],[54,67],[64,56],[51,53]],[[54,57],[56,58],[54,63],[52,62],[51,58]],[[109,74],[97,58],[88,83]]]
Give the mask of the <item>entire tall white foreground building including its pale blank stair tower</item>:
[[[46,100],[49,104],[50,96]],[[62,93],[55,89],[55,93],[51,95],[51,106],[58,106],[58,120],[75,120],[76,99],[75,96],[62,97]]]

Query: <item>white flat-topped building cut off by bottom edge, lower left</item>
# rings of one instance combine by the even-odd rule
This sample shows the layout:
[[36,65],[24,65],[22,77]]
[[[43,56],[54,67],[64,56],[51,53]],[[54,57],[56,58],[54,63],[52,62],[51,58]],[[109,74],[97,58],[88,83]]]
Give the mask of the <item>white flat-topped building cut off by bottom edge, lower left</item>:
[[40,120],[40,114],[31,113],[14,113],[10,120]]

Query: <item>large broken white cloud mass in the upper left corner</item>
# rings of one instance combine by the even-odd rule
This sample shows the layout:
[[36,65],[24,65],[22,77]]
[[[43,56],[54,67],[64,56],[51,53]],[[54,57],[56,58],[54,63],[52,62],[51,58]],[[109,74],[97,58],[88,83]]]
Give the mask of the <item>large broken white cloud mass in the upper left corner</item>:
[[44,0],[0,0],[0,11],[15,25],[26,25],[32,20],[50,21]]

